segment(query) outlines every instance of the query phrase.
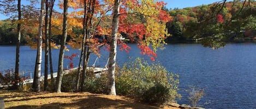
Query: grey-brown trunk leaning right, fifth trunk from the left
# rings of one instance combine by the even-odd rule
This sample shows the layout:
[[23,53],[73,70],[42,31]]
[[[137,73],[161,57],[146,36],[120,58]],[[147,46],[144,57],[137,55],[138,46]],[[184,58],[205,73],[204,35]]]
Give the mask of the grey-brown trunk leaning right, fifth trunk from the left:
[[56,79],[56,92],[61,92],[61,83],[62,83],[62,76],[63,76],[63,59],[64,59],[64,51],[65,51],[65,44],[67,39],[68,33],[68,0],[64,0],[64,16],[63,16],[63,30],[61,37],[61,49],[59,50],[59,60],[58,60],[58,72],[57,72],[57,79]]

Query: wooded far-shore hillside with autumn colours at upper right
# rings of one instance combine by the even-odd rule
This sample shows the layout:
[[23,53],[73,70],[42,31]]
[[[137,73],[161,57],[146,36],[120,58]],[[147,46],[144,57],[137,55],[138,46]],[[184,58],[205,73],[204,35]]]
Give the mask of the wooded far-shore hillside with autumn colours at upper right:
[[255,7],[255,1],[220,1],[183,9],[163,7],[172,18],[166,24],[172,35],[168,40],[200,40],[210,47],[223,47],[222,41],[253,40]]

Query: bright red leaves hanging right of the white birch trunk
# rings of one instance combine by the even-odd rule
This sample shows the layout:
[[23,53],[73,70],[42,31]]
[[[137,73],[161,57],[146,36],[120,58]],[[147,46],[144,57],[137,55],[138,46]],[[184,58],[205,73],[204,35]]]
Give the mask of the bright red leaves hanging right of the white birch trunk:
[[[130,2],[133,5],[129,6],[126,4],[126,2]],[[154,7],[155,9],[159,9],[159,15],[154,15],[151,17],[154,17],[157,19],[157,22],[169,22],[172,21],[173,18],[170,17],[170,15],[165,12],[164,10],[161,10],[163,5],[166,5],[163,1],[156,2],[156,5],[150,5],[150,7]],[[138,47],[141,50],[142,55],[148,55],[150,56],[151,60],[154,61],[154,57],[157,57],[156,53],[153,52],[153,50],[150,47],[147,47],[145,45],[142,45],[142,40],[144,40],[146,37],[149,37],[151,34],[150,31],[146,32],[146,25],[144,23],[138,23],[138,22],[130,22],[128,16],[133,16],[128,13],[128,8],[133,9],[135,7],[141,7],[141,4],[136,0],[127,0],[122,2],[122,6],[120,7],[120,17],[119,17],[119,24],[118,24],[118,33],[126,34],[127,38],[130,39],[133,43],[138,43]],[[184,21],[184,20],[183,20]],[[147,34],[146,34],[147,33]],[[161,37],[161,36],[159,36]],[[126,52],[129,52],[130,49],[129,46],[127,46],[126,43],[120,41],[117,41],[118,46],[120,46],[119,50],[125,50]],[[106,49],[109,50],[108,46],[105,46]]]

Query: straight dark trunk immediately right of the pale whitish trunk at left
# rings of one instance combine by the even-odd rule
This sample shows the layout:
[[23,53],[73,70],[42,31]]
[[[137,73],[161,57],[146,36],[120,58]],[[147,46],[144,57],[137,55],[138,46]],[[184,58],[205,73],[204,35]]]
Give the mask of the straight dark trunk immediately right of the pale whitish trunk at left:
[[44,91],[48,87],[48,52],[49,52],[49,4],[48,0],[45,0],[45,55],[44,55]]

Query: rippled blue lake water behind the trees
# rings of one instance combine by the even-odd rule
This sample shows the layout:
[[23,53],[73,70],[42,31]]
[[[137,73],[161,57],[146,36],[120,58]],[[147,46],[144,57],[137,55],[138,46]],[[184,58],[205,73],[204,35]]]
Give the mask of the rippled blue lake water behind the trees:
[[[129,53],[118,52],[117,64],[122,65],[131,57],[142,56],[136,44]],[[15,47],[0,46],[0,70],[15,68]],[[36,50],[21,46],[20,72],[29,75],[34,70]],[[57,71],[59,50],[53,50],[53,67]],[[70,49],[65,55],[80,53]],[[108,51],[102,49],[102,56],[96,66],[104,67],[108,60]],[[170,72],[180,75],[182,99],[178,104],[189,104],[187,90],[189,86],[205,89],[205,96],[199,105],[205,108],[256,108],[256,43],[233,43],[225,48],[212,50],[200,44],[168,44],[164,50],[157,51],[157,59]],[[89,65],[93,65],[96,56],[92,55]],[[132,58],[134,59],[134,58]],[[74,58],[78,66],[79,57]],[[69,60],[64,59],[64,66]],[[44,64],[43,64],[44,66]],[[43,68],[43,67],[42,67]],[[43,70],[43,69],[42,69]]]

